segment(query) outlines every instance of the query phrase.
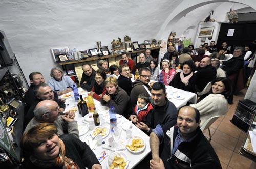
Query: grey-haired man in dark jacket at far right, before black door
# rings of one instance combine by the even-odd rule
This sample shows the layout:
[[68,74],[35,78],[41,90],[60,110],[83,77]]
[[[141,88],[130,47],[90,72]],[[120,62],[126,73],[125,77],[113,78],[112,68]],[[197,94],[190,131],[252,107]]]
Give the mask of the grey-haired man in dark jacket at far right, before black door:
[[233,57],[228,61],[221,62],[223,64],[223,70],[226,73],[226,76],[236,74],[239,72],[239,69],[244,66],[244,57],[243,57],[243,48],[236,47],[234,48]]

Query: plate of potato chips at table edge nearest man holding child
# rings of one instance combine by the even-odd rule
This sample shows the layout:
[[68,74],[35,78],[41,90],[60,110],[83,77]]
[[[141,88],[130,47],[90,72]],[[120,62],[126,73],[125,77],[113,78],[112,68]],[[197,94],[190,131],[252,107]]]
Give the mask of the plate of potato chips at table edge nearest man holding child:
[[132,153],[140,153],[146,148],[146,145],[141,137],[135,136],[128,140],[126,148]]

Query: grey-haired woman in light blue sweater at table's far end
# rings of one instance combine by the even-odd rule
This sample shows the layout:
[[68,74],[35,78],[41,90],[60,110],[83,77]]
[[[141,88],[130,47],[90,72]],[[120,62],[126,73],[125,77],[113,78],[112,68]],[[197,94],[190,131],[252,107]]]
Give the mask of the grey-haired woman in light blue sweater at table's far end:
[[53,67],[50,75],[52,78],[48,81],[48,85],[54,92],[57,92],[58,95],[63,95],[72,91],[75,82],[69,76],[64,76],[62,69]]

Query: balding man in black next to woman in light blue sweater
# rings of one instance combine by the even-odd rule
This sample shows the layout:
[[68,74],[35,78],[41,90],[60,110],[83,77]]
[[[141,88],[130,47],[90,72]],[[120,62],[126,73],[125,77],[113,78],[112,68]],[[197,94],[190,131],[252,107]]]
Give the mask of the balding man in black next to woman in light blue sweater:
[[80,86],[82,89],[85,89],[87,91],[91,91],[93,88],[93,85],[95,83],[95,70],[92,68],[89,64],[83,64],[82,65],[82,78],[80,81]]

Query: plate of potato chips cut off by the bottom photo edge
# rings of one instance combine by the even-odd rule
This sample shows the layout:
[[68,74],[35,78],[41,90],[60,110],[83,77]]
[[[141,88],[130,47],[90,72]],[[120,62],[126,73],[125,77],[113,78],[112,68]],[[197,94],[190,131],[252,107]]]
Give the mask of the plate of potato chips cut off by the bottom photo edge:
[[121,151],[116,151],[109,155],[108,169],[126,169],[128,164],[126,155]]

